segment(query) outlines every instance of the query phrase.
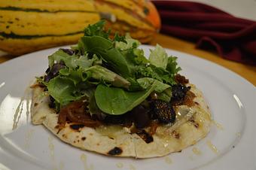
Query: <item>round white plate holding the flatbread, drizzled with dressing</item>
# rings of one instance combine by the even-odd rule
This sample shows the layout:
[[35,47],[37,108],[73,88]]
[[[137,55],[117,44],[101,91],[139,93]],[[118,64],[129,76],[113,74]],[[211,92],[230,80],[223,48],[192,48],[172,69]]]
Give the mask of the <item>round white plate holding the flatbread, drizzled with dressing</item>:
[[[148,55],[150,46],[142,46]],[[47,68],[41,50],[5,62],[0,67],[0,169],[255,169],[256,90],[239,75],[204,59],[166,50],[178,56],[181,74],[203,91],[213,119],[206,138],[181,153],[154,159],[114,158],[79,150],[55,138],[43,126],[33,126],[23,102],[17,129],[14,114],[24,91]],[[29,102],[29,101],[28,101]],[[28,119],[28,120],[27,120]],[[209,147],[209,143],[212,147]],[[216,150],[212,148],[216,147]],[[195,150],[200,150],[198,154]],[[193,151],[194,150],[194,151]]]

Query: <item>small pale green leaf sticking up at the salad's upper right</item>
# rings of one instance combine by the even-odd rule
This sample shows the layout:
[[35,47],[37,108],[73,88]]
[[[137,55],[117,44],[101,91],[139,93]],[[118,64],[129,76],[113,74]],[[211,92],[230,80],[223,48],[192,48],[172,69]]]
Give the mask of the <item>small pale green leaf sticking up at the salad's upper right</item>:
[[168,56],[166,51],[163,50],[163,47],[157,44],[155,49],[151,50],[151,53],[149,55],[149,61],[152,65],[166,69],[166,65],[168,63]]

